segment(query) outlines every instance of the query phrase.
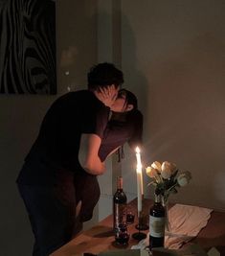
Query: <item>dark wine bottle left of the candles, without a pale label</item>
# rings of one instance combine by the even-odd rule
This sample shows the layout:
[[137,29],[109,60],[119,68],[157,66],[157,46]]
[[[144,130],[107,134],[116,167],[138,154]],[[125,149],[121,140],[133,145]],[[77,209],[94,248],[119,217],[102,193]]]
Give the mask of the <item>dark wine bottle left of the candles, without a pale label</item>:
[[127,244],[129,235],[126,224],[126,195],[123,190],[123,177],[117,177],[117,191],[113,197],[113,228],[117,244]]

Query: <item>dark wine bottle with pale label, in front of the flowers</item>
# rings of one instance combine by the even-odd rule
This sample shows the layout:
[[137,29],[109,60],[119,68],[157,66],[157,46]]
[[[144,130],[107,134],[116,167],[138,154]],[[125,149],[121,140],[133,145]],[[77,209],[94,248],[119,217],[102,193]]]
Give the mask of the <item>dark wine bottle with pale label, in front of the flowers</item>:
[[165,239],[165,208],[161,195],[155,194],[155,201],[149,215],[149,248],[163,247]]

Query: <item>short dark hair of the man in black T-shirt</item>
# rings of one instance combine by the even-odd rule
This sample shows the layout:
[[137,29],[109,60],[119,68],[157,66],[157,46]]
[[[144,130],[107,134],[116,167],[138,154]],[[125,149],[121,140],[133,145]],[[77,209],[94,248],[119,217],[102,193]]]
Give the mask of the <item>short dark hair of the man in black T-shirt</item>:
[[116,88],[124,82],[124,74],[114,64],[103,62],[93,66],[88,75],[88,89],[98,90],[99,87],[115,84]]

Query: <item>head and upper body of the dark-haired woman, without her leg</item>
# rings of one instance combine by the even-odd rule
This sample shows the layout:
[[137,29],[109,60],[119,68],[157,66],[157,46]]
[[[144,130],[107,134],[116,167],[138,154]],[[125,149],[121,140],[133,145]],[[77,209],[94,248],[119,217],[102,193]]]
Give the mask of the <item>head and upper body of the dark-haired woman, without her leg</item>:
[[138,110],[136,96],[126,89],[121,89],[111,110],[112,115],[101,140],[99,151],[101,161],[112,152],[123,148],[125,142],[132,149],[142,144],[143,115]]

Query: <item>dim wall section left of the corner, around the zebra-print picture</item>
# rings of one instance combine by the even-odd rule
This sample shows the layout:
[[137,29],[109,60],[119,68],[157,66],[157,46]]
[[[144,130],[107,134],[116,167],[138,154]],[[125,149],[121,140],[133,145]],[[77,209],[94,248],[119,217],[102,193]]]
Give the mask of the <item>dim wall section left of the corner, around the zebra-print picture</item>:
[[68,86],[86,88],[86,73],[97,62],[96,10],[95,0],[56,1],[57,95],[0,95],[1,255],[32,255],[33,234],[15,179],[47,108]]

